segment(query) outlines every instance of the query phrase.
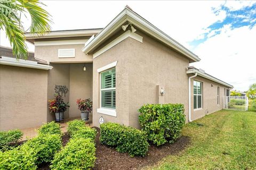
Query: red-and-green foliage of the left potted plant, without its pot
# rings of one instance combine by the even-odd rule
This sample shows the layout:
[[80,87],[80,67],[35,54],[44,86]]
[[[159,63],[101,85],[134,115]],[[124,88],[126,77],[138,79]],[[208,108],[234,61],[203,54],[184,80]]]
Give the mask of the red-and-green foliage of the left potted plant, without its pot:
[[49,109],[51,113],[65,112],[69,103],[65,103],[61,95],[54,95],[55,99],[49,100]]

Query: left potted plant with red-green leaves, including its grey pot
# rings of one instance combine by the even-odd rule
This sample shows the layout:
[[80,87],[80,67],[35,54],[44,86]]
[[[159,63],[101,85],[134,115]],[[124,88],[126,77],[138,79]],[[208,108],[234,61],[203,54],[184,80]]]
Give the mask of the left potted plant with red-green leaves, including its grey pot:
[[50,112],[55,114],[56,121],[62,121],[64,118],[64,112],[67,111],[69,104],[63,101],[61,95],[54,95],[53,100],[49,100]]

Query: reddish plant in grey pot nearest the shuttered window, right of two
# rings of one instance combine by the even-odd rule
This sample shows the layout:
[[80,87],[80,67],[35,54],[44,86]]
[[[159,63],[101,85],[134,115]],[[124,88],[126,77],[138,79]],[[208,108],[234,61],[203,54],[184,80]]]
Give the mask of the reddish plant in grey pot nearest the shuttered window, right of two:
[[77,99],[76,104],[81,111],[81,119],[89,120],[89,113],[92,111],[92,100],[89,99]]

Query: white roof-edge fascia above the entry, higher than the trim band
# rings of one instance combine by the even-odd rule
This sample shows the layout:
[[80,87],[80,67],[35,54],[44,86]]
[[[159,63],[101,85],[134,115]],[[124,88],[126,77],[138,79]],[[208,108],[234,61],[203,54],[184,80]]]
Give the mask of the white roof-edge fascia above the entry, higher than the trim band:
[[98,30],[75,30],[75,31],[56,31],[56,32],[49,32],[43,36],[37,36],[33,33],[25,33],[26,39],[34,39],[34,38],[58,38],[58,37],[78,37],[78,36],[92,36],[97,34],[101,31]]

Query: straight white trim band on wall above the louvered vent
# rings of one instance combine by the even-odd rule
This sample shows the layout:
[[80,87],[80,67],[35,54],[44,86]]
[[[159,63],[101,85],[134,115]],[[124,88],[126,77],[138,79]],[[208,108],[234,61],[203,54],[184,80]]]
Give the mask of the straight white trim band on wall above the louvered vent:
[[74,45],[74,44],[85,44],[88,39],[77,39],[77,40],[58,40],[58,41],[35,41],[35,46],[57,46],[57,45]]

